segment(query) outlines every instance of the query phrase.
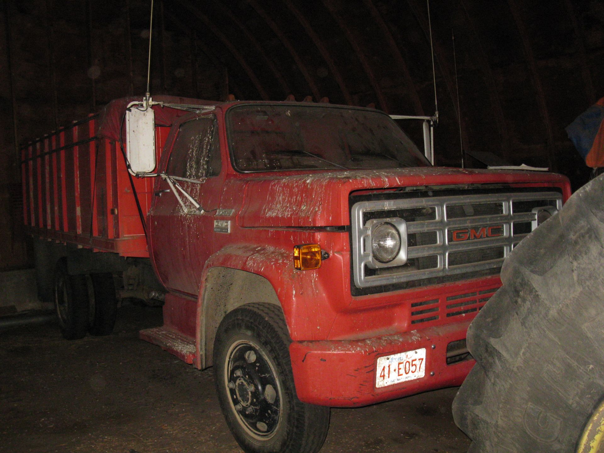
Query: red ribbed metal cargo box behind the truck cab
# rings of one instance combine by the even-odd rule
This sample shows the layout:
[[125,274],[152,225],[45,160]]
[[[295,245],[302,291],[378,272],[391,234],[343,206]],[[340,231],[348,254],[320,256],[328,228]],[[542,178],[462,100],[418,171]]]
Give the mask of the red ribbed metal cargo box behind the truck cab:
[[[24,223],[49,239],[148,257],[120,146],[95,137],[96,130],[96,117],[91,116],[21,150]],[[156,128],[158,159],[169,130]],[[134,185],[146,215],[153,199],[153,179],[134,178]],[[48,235],[40,229],[65,234]]]

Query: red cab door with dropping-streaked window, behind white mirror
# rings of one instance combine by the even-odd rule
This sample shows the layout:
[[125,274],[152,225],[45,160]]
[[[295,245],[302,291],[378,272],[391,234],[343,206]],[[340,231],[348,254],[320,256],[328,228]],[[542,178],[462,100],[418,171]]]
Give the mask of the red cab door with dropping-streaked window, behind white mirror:
[[[224,181],[218,130],[213,114],[181,124],[164,170],[175,190],[164,176],[149,214],[159,278],[166,288],[193,296],[199,292],[202,266],[213,252],[213,214]],[[201,205],[203,213],[185,193]]]

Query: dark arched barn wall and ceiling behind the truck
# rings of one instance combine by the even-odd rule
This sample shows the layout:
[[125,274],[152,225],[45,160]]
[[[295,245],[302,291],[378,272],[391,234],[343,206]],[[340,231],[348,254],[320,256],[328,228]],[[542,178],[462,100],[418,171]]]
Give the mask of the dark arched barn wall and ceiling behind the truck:
[[[0,268],[28,263],[15,139],[25,143],[113,98],[144,93],[149,4],[3,2]],[[423,0],[156,0],[153,23],[152,94],[312,95],[392,114],[434,113]],[[604,95],[604,3],[432,0],[431,26],[437,164],[460,165],[461,123],[465,149],[583,184],[589,171],[564,127]]]

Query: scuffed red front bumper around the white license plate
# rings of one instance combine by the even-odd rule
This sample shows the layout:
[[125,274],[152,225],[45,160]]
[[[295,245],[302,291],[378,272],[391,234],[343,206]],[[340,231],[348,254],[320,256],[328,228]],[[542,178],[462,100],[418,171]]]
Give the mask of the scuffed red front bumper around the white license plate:
[[[295,341],[289,346],[298,398],[305,403],[356,407],[461,385],[474,360],[447,365],[447,345],[466,338],[470,321],[355,341]],[[376,388],[376,361],[426,349],[424,377]]]

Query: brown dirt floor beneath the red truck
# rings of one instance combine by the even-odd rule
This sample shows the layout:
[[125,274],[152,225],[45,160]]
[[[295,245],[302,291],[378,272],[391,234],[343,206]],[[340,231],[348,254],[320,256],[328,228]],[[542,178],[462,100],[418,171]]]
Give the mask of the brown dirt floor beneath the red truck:
[[[138,339],[161,309],[121,307],[115,332],[66,341],[56,326],[0,332],[0,452],[240,452],[211,368]],[[456,388],[333,409],[321,453],[466,452],[451,416]]]

